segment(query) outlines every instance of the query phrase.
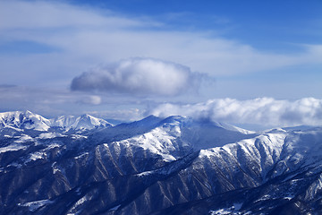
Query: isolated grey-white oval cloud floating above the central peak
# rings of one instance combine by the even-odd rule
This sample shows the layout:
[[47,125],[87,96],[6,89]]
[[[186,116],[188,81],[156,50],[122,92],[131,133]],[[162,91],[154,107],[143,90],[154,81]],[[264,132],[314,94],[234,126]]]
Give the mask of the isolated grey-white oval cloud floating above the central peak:
[[174,96],[198,90],[199,74],[189,67],[152,58],[131,58],[97,67],[72,80],[72,90]]

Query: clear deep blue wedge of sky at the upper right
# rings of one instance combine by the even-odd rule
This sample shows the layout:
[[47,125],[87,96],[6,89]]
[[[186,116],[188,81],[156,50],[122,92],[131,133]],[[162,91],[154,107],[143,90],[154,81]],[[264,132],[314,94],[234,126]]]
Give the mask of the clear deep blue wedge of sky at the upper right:
[[[70,1],[147,16],[175,30],[210,30],[264,50],[288,52],[320,44],[321,1]],[[90,2],[90,4],[89,4]]]

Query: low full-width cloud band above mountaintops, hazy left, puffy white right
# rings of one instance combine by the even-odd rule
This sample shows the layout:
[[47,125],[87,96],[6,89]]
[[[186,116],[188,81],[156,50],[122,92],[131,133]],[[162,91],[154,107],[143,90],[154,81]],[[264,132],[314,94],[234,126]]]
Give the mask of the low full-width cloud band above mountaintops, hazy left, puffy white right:
[[44,116],[79,115],[120,120],[138,120],[143,116],[191,116],[234,125],[252,124],[260,127],[322,125],[322,99],[304,98],[294,101],[272,98],[248,100],[209,99],[194,104],[165,103],[154,99],[109,96],[106,93],[41,90],[0,85],[0,112],[25,110]]

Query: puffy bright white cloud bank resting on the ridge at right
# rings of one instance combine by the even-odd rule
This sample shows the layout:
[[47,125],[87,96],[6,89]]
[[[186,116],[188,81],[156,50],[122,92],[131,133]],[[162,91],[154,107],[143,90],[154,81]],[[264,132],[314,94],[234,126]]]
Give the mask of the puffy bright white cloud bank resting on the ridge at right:
[[149,114],[184,115],[234,124],[322,125],[322,99],[211,99],[193,105],[162,104],[150,110]]

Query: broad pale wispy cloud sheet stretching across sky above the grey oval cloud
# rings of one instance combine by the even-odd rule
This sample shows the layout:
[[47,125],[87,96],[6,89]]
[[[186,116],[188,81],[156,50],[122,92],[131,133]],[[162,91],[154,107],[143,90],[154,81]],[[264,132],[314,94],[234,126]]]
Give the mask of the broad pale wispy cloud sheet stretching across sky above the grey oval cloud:
[[[129,17],[64,2],[1,1],[0,20],[5,21],[0,23],[2,43],[10,41],[13,45],[16,41],[19,46],[21,41],[30,41],[52,48],[52,52],[47,49],[40,54],[3,55],[0,58],[5,74],[3,82],[14,84],[21,84],[29,77],[30,84],[66,83],[66,79],[95,64],[136,56],[188,65],[192,71],[214,77],[322,64],[321,45],[303,45],[297,53],[263,52],[207,31],[167,29],[165,23],[147,17]],[[28,67],[29,77],[21,74]],[[12,73],[21,74],[24,80],[13,78],[9,75]]]

